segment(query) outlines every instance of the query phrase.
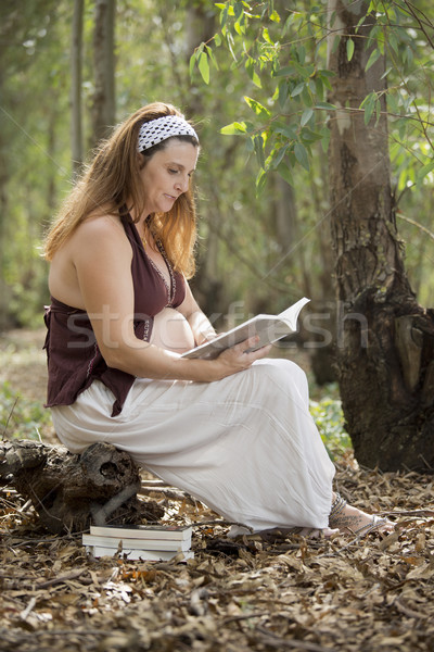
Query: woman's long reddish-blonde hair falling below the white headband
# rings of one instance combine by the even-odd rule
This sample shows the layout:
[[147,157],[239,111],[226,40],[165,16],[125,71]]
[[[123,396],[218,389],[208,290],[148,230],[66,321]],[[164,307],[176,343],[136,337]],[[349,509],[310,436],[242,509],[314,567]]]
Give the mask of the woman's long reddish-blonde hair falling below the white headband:
[[[43,250],[46,260],[51,261],[58,249],[91,214],[119,215],[131,208],[136,215],[142,214],[146,197],[140,179],[143,165],[140,165],[137,154],[139,129],[143,123],[165,115],[182,114],[171,104],[148,104],[118,125],[113,135],[99,145],[92,162],[66,198],[47,234]],[[199,147],[192,137],[176,138],[188,139]],[[167,141],[162,143],[163,147],[165,145]],[[150,153],[146,152],[144,161]],[[128,206],[127,201],[130,202]],[[194,274],[193,250],[196,240],[196,212],[191,184],[168,213],[153,215],[152,231],[162,241],[174,268],[191,278]]]

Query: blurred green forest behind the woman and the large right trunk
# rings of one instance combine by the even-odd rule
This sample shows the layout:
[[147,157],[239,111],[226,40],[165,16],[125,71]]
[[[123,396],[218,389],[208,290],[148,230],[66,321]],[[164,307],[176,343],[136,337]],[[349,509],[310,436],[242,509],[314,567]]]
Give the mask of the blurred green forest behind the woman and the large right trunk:
[[[309,297],[299,344],[312,354],[318,381],[335,379],[330,351],[336,348],[343,294],[336,291],[339,251],[331,229],[330,130],[336,105],[328,101],[335,74],[328,71],[328,48],[335,47],[328,36],[340,36],[350,67],[359,25],[355,21],[342,37],[334,15],[360,7],[362,17],[378,20],[375,36],[363,36],[371,47],[363,43],[363,70],[384,60],[378,76],[387,78],[388,88],[368,85],[358,105],[346,109],[360,113],[371,134],[387,121],[394,237],[416,302],[432,305],[427,3],[414,9],[401,1],[5,1],[0,8],[0,328],[41,325],[49,302],[43,231],[87,152],[107,126],[164,100],[180,106],[201,137],[193,285],[202,308],[227,327]],[[282,116],[278,134],[273,128]],[[270,153],[273,138],[280,141]],[[365,289],[361,284],[358,293]],[[425,349],[426,358],[432,348]],[[422,365],[419,385],[409,388],[409,409],[419,422],[413,394],[432,386],[430,362]],[[350,400],[345,405],[356,437]],[[424,422],[432,423],[432,405],[423,410]],[[390,423],[384,428],[390,430]]]

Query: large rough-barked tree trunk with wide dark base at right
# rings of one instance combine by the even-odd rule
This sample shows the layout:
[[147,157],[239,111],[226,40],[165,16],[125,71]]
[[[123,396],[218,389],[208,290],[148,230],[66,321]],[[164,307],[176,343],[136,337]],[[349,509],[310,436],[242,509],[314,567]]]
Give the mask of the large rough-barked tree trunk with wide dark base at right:
[[[359,463],[383,471],[434,469],[434,312],[418,305],[403,264],[391,190],[384,58],[365,72],[366,37],[374,24],[369,2],[329,0],[329,152],[332,240],[337,304],[341,397]],[[346,41],[355,42],[348,61]],[[375,91],[381,115],[365,125],[358,111]]]

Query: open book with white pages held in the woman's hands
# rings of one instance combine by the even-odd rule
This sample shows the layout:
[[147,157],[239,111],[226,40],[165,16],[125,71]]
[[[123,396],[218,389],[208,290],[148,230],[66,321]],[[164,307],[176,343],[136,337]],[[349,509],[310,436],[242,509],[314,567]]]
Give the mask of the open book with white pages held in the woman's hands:
[[201,358],[214,360],[221,351],[234,347],[254,335],[259,336],[259,341],[248,351],[256,351],[266,344],[276,342],[282,337],[286,337],[297,329],[297,318],[302,308],[309,302],[309,299],[303,298],[279,315],[256,315],[247,319],[240,326],[218,335],[209,342],[195,347],[182,354],[182,358]]

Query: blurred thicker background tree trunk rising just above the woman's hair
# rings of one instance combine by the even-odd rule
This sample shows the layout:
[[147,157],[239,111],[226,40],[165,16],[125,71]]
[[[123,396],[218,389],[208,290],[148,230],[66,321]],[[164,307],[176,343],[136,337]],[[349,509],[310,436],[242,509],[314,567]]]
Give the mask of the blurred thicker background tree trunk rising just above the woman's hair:
[[97,0],[93,32],[93,143],[116,122],[115,109],[115,0]]

